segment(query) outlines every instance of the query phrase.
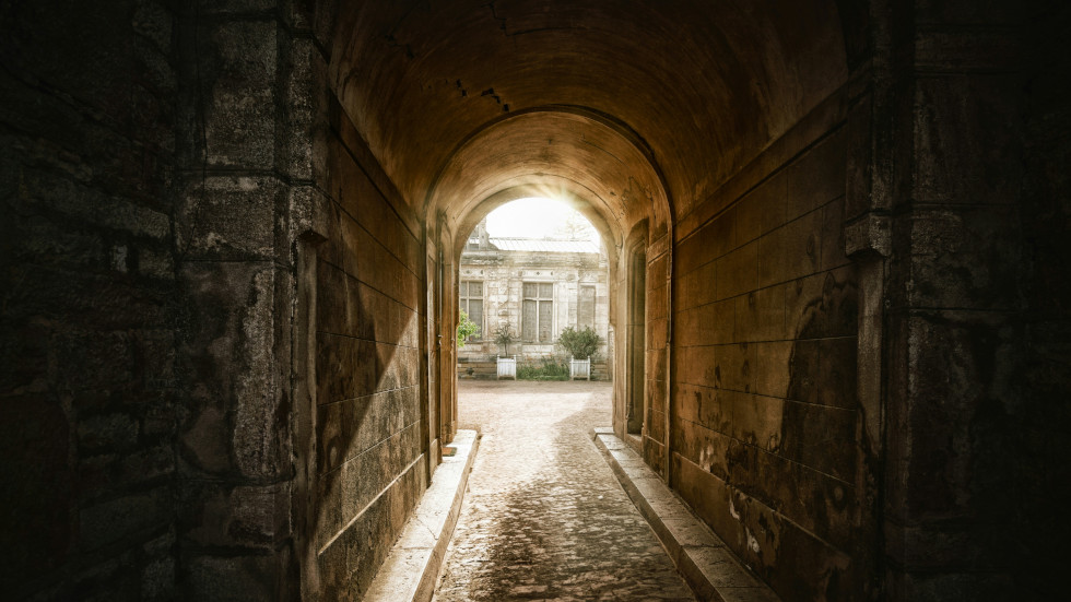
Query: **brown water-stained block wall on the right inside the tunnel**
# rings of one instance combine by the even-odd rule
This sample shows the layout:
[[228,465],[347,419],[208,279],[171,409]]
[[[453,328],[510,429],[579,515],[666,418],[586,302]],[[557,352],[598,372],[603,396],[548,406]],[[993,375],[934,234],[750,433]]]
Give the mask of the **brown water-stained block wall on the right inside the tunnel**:
[[833,131],[674,256],[672,485],[785,600],[850,598],[857,316],[844,166]]

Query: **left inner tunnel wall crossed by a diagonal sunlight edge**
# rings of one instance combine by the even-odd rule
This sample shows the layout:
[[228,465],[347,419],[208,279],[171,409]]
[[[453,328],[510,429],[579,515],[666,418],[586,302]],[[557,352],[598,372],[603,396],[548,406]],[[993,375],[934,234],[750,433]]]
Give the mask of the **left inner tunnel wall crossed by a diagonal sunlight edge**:
[[[408,211],[368,176],[341,111],[329,141],[331,222],[317,261],[318,562],[325,593],[360,599],[424,492],[421,272]],[[401,209],[399,209],[401,208]]]

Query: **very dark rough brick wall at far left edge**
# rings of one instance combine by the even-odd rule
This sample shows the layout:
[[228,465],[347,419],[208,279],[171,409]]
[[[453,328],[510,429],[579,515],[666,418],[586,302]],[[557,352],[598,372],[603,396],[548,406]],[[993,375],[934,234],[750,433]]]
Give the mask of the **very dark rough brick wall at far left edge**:
[[168,7],[0,9],[5,599],[174,593]]

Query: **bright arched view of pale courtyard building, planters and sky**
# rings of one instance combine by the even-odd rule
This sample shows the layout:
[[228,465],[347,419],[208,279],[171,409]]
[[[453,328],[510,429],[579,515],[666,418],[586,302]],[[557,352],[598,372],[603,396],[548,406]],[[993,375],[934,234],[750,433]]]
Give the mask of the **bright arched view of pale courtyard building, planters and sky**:
[[568,200],[495,209],[458,264],[458,377],[610,379],[609,298],[601,239]]

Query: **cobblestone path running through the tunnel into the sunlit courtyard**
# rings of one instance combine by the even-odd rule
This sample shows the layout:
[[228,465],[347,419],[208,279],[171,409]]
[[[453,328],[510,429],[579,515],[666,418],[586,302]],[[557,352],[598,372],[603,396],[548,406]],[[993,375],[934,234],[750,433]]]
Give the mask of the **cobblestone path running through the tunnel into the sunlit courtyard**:
[[483,439],[435,600],[694,600],[589,438],[609,383],[460,385]]

